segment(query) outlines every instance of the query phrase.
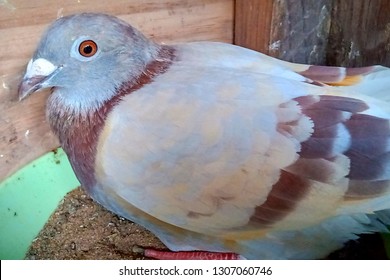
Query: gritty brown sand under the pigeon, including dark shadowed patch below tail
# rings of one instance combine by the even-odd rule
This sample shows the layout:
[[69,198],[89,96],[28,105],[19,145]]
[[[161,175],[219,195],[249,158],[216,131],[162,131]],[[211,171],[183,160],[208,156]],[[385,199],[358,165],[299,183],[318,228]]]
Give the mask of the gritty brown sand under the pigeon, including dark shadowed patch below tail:
[[[94,203],[80,188],[70,192],[31,245],[26,259],[144,259],[134,245],[165,249],[149,231]],[[385,259],[380,235],[366,235],[329,259]]]

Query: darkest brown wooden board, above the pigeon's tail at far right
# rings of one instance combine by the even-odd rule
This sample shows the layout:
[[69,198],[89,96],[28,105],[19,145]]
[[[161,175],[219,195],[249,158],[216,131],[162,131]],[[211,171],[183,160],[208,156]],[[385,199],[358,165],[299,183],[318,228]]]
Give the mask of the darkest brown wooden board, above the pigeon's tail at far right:
[[390,1],[336,0],[327,63],[390,66]]

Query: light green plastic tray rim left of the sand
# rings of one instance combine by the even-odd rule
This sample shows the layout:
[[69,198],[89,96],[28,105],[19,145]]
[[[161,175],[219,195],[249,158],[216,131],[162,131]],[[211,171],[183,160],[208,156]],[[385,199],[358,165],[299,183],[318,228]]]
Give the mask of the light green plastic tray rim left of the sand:
[[0,183],[0,259],[23,259],[66,193],[80,183],[62,149],[26,165]]

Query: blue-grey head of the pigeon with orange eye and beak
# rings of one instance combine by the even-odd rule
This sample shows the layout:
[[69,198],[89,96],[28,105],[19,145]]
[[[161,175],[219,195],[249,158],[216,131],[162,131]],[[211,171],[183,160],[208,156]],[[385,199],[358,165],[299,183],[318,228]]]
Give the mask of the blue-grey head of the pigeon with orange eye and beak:
[[19,99],[44,88],[82,113],[112,98],[156,59],[160,46],[118,18],[83,13],[55,21],[42,36],[19,86]]

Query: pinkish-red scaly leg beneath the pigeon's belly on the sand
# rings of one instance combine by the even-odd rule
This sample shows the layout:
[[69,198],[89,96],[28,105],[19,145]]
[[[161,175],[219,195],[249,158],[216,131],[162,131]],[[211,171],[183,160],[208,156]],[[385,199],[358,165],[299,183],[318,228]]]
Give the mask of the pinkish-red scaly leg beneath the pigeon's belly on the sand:
[[145,257],[158,260],[242,260],[244,259],[235,253],[220,253],[206,251],[159,251],[154,249],[133,248],[133,251],[142,253]]

